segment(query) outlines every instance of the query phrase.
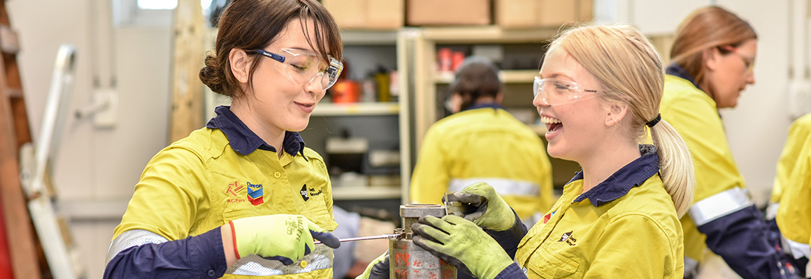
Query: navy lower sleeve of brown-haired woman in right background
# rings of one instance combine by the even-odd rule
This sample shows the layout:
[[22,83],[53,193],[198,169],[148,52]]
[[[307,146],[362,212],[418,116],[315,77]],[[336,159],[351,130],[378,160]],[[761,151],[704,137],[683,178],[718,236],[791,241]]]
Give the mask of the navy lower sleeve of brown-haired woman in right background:
[[769,243],[766,223],[755,205],[698,226],[707,236],[707,247],[729,264],[740,277],[791,278],[781,273],[783,255]]

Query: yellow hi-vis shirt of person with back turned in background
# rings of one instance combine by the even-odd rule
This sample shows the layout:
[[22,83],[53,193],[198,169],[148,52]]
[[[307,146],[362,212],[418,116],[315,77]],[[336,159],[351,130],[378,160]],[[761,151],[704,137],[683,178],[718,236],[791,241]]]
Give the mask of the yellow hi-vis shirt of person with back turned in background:
[[551,163],[532,129],[503,108],[474,108],[436,121],[411,176],[411,202],[441,204],[446,192],[487,182],[528,221],[553,202]]

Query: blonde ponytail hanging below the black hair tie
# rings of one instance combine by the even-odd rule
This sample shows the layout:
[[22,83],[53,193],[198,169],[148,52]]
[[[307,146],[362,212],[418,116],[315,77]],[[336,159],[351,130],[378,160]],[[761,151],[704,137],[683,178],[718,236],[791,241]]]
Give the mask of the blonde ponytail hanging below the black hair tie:
[[659,120],[658,124],[650,127],[650,137],[659,150],[659,174],[664,188],[681,218],[693,205],[693,187],[696,185],[690,150],[666,120]]

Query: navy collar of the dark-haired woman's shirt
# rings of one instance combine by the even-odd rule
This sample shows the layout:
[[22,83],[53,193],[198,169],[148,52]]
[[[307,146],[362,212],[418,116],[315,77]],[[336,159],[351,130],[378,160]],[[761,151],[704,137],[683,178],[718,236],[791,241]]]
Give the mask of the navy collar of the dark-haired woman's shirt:
[[[206,128],[221,129],[222,133],[225,133],[225,137],[228,137],[231,148],[237,153],[247,155],[257,149],[277,152],[276,147],[268,146],[242,120],[239,120],[239,117],[231,112],[230,106],[219,106],[214,109],[214,112],[217,112],[217,116],[208,120]],[[298,153],[304,154],[304,140],[298,132],[286,131],[281,146],[284,146],[287,154],[294,157]]]

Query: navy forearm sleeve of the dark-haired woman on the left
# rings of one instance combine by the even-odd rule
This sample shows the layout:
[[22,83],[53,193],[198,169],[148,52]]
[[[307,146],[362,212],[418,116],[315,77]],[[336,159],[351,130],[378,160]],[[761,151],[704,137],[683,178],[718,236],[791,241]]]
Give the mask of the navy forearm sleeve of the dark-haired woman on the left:
[[129,247],[109,261],[104,278],[219,278],[227,268],[217,227],[186,239]]

